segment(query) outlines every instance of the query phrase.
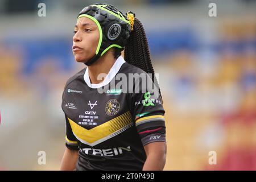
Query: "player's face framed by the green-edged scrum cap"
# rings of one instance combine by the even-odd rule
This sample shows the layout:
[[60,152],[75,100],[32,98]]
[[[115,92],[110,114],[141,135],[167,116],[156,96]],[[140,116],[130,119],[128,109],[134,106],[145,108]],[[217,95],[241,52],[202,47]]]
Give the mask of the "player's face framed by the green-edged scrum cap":
[[100,31],[93,20],[81,17],[77,19],[73,36],[73,55],[77,62],[86,63],[96,52]]

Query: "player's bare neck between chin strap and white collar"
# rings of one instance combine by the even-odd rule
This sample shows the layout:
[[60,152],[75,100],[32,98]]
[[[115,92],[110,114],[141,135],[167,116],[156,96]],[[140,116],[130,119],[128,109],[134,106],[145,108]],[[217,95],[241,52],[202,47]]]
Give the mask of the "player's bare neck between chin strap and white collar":
[[[115,63],[115,60],[117,59],[115,59],[113,52],[108,51],[94,64],[88,66],[90,82],[92,84],[99,84],[100,82],[102,82],[105,79],[106,75],[108,75],[110,69]],[[102,78],[101,80],[98,80],[98,75],[100,75],[101,73],[105,74],[103,75],[103,78],[102,76],[100,76],[100,78]]]

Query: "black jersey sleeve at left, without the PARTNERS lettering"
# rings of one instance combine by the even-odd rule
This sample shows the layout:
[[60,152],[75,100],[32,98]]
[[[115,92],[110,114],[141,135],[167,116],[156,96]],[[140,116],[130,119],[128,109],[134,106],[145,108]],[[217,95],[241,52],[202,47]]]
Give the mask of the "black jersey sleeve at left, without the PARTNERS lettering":
[[65,120],[66,120],[66,143],[65,145],[70,149],[70,150],[79,150],[78,144],[77,144],[77,139],[75,135],[72,132],[71,125],[68,121],[67,115],[65,115]]

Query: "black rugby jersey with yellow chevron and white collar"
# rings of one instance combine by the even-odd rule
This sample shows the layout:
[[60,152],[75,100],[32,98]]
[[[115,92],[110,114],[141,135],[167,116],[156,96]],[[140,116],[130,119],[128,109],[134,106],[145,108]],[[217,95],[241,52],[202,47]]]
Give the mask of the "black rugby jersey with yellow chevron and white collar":
[[141,170],[146,160],[143,146],[166,142],[160,98],[154,98],[147,88],[143,92],[139,78],[134,78],[131,86],[134,89],[138,81],[140,93],[124,92],[125,86],[113,89],[118,84],[117,73],[126,75],[127,80],[129,73],[146,74],[119,56],[102,83],[91,84],[84,68],[65,85],[61,107],[66,118],[66,146],[79,150],[77,170]]

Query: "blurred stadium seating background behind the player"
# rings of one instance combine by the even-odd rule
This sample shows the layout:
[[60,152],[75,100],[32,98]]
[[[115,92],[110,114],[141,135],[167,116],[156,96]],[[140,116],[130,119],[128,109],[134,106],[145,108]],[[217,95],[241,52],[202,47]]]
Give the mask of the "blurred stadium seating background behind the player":
[[[38,16],[40,2],[46,17]],[[96,2],[0,0],[0,169],[59,169],[61,94],[85,67],[73,59],[73,26]],[[165,169],[256,170],[256,2],[102,2],[133,11],[146,29],[166,109]],[[208,16],[210,2],[217,17]]]

